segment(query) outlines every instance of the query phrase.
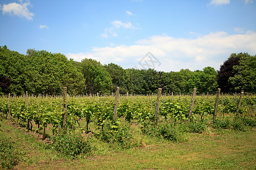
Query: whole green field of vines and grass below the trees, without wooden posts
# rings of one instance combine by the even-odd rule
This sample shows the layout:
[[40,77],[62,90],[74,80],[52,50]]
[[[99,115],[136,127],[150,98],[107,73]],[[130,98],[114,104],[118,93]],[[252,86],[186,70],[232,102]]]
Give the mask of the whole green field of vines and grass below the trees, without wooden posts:
[[[16,169],[255,169],[255,96],[2,97],[1,166]],[[223,103],[223,104],[222,104]],[[5,118],[6,117],[6,118]],[[157,120],[157,121],[156,121]],[[76,150],[80,148],[79,150]],[[4,151],[4,152],[3,152]],[[4,155],[5,154],[5,155]]]

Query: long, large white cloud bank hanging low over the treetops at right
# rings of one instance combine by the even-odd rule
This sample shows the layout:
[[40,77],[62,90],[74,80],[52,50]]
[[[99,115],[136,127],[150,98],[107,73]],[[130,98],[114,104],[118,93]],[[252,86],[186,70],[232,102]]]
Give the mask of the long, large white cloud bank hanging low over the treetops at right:
[[156,70],[179,71],[180,69],[203,70],[211,66],[216,70],[231,53],[247,52],[256,54],[256,32],[229,35],[226,32],[209,33],[195,39],[175,38],[171,36],[151,36],[135,42],[134,45],[94,47],[91,52],[67,55],[81,61],[93,58],[102,64],[110,62],[121,65],[124,69],[138,67],[139,61],[151,52],[161,63]]

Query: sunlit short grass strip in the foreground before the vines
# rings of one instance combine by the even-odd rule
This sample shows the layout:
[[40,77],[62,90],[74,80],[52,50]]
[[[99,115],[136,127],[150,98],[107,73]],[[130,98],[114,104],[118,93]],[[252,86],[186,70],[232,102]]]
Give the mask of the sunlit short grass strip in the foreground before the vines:
[[76,159],[46,149],[46,141],[7,120],[3,120],[1,129],[0,137],[13,142],[19,155],[17,169],[256,169],[255,128],[234,131],[208,127],[207,133],[186,133],[186,142],[173,143],[141,135],[138,125],[132,125],[137,147],[117,150],[94,138],[94,154]]

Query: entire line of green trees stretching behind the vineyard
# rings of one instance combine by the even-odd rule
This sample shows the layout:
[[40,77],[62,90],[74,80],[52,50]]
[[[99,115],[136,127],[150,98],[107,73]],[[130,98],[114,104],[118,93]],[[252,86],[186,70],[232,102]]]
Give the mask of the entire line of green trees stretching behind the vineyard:
[[194,87],[197,92],[256,92],[256,57],[247,53],[231,54],[220,67],[165,73],[154,69],[123,69],[109,63],[101,65],[93,59],[73,61],[60,53],[28,49],[27,54],[0,46],[0,95],[60,94],[68,87],[69,94],[110,94],[120,87],[121,94],[151,94],[160,87],[163,92],[184,94]]

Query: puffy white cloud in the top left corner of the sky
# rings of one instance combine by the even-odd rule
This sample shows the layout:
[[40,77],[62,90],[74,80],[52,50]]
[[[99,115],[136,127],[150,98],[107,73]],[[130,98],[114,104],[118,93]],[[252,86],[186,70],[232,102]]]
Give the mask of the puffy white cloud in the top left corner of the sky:
[[26,1],[25,3],[22,1],[20,3],[9,3],[2,6],[2,14],[16,15],[20,18],[24,17],[27,20],[33,20],[32,17],[34,14],[28,11],[28,6],[31,6],[30,1]]

